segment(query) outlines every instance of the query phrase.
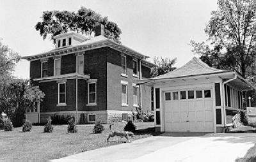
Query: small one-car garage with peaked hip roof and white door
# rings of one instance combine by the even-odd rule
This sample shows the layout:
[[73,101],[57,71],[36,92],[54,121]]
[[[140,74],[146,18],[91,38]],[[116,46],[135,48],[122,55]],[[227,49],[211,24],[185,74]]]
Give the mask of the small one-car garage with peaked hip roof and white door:
[[242,91],[253,89],[235,71],[211,68],[196,57],[139,84],[154,87],[155,128],[162,132],[221,132],[232,124],[230,112],[243,111]]

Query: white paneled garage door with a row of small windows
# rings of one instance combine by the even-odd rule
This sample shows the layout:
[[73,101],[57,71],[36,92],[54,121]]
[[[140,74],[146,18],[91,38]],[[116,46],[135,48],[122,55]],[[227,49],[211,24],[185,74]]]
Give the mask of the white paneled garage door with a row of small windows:
[[165,131],[214,132],[212,89],[164,92]]

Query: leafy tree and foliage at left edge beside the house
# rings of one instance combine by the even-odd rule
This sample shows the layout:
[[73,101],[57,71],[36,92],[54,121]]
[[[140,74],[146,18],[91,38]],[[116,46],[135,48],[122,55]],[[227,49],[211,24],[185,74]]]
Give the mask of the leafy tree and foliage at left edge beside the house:
[[44,93],[29,85],[29,80],[12,76],[20,55],[0,41],[0,112],[5,112],[14,126],[21,126],[24,114],[33,102],[42,101]]

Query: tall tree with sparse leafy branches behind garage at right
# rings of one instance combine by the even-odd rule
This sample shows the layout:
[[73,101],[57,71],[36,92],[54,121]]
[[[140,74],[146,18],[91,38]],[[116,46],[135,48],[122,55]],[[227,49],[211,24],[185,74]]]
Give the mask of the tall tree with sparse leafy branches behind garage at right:
[[[235,70],[244,78],[255,75],[256,1],[218,0],[205,28],[207,43],[191,41],[193,52],[209,66]],[[208,44],[208,45],[207,45]]]

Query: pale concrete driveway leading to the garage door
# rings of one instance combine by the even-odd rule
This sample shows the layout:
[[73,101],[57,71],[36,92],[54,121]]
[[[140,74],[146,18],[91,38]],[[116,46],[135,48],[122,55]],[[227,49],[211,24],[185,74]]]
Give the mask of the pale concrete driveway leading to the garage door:
[[235,161],[243,158],[256,143],[252,134],[164,133],[133,141],[82,152],[53,162],[73,161]]

